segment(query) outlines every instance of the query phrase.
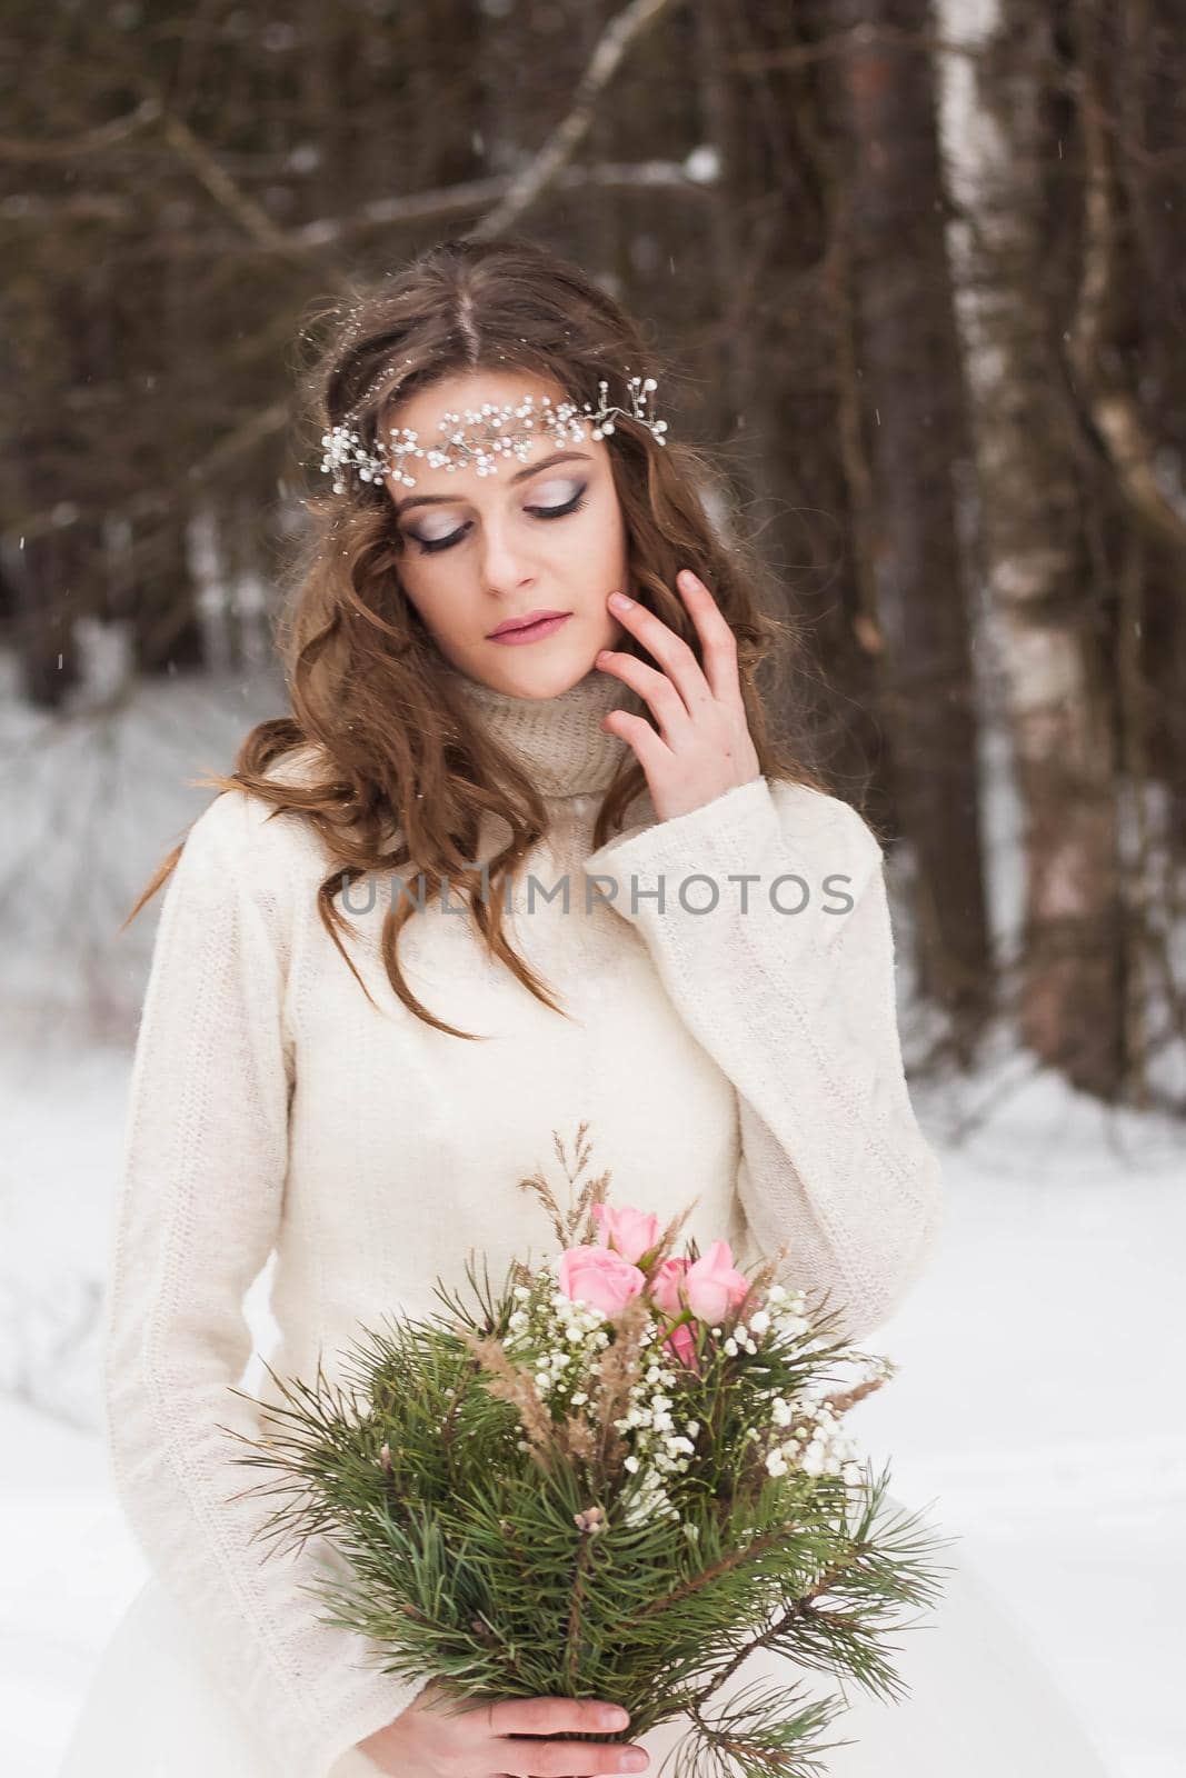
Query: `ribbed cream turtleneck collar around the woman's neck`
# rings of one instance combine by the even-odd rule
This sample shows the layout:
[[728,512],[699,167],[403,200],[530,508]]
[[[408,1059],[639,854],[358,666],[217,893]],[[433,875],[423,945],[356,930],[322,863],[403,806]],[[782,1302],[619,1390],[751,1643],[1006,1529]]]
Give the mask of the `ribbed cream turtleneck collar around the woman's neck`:
[[649,706],[615,674],[590,667],[558,697],[514,697],[452,669],[459,693],[485,733],[523,761],[542,797],[581,797],[606,789],[631,750],[601,727],[610,709],[645,715]]

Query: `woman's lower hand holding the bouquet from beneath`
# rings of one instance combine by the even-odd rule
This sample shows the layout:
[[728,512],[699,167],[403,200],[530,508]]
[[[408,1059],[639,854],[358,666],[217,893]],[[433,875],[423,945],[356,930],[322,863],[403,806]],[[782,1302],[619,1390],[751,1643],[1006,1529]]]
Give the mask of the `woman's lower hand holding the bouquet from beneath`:
[[[603,1723],[601,1710],[617,1707],[596,1698],[500,1698],[446,1714],[429,1709],[437,1694],[443,1687],[430,1680],[393,1723],[359,1741],[379,1771],[393,1778],[469,1778],[471,1773],[484,1778],[594,1778],[645,1771],[649,1764],[645,1748],[631,1742],[546,1739],[573,1730],[621,1734],[629,1721],[626,1712]],[[628,1764],[631,1755],[640,1755],[638,1764]]]

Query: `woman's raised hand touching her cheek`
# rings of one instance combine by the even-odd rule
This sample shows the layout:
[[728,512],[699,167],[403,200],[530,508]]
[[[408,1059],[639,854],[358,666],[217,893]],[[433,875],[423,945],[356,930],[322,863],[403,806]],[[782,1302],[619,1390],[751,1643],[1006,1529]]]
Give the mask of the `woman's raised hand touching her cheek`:
[[702,580],[685,569],[676,585],[701,637],[704,669],[683,637],[644,605],[633,599],[619,605],[617,592],[610,594],[610,610],[667,672],[612,649],[594,661],[633,686],[658,718],[661,734],[628,709],[612,709],[601,727],[635,749],[660,821],[688,814],[761,775],[738,681],[736,637]]

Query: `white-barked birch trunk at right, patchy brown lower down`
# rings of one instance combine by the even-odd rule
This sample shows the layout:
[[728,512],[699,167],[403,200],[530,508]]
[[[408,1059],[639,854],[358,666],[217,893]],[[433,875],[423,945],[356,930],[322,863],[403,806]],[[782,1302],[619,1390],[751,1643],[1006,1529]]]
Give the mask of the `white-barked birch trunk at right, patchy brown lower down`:
[[1042,1060],[1076,1086],[1111,1097],[1124,1056],[1117,747],[1104,626],[1085,596],[1076,420],[1054,343],[1051,267],[1065,192],[1047,187],[1047,169],[1060,160],[1049,9],[1001,0],[989,46],[964,165],[978,240],[964,315],[1022,800],[1019,1021]]

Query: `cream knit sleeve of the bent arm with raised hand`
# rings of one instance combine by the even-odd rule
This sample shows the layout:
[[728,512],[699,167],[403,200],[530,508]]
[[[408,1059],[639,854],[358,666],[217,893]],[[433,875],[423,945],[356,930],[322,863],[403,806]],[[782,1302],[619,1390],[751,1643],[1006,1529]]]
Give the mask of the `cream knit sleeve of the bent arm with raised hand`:
[[[884,855],[836,797],[765,777],[585,859],[738,1093],[738,1195],[763,1255],[861,1339],[942,1225],[905,1083]],[[740,878],[749,877],[749,884]]]

